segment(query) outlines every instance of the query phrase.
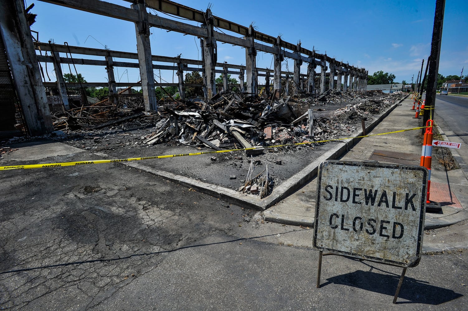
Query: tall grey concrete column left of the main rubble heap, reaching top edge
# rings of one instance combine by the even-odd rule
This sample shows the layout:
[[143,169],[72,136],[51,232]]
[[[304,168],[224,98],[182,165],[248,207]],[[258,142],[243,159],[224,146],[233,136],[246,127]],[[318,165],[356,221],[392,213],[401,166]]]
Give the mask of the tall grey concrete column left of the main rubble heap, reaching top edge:
[[135,23],[135,31],[137,33],[138,62],[145,110],[157,111],[158,104],[154,93],[153,61],[151,59],[150,31],[145,1],[139,0],[138,3],[133,3],[131,7],[138,12],[139,17],[139,22]]

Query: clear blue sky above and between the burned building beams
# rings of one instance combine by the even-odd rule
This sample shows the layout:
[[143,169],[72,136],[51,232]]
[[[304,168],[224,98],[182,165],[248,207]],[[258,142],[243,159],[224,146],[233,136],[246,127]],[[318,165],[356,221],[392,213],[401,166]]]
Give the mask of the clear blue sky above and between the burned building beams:
[[[60,7],[39,0],[32,12],[38,14],[32,30],[39,32],[39,40],[136,52],[135,27],[131,22],[120,21],[96,14]],[[130,3],[108,0],[129,7]],[[411,81],[421,69],[421,61],[431,51],[435,0],[406,1],[219,1],[179,0],[179,3],[199,10],[212,4],[213,14],[249,26],[254,23],[258,31],[270,36],[282,36],[285,41],[297,43],[334,57],[350,65],[364,67],[373,72],[383,70],[393,73],[395,81]],[[161,12],[153,14],[169,17]],[[170,17],[169,17],[170,18]],[[194,23],[196,24],[196,23]],[[439,64],[439,73],[460,75],[462,66],[468,74],[468,1],[447,0]],[[225,30],[224,30],[225,31]],[[176,32],[151,28],[152,54],[200,59],[199,39]],[[225,31],[227,32],[227,31]],[[228,32],[227,32],[228,33]],[[236,35],[240,36],[240,35]],[[78,58],[80,56],[74,55]],[[90,58],[90,57],[88,57]],[[101,58],[98,58],[101,59]],[[245,65],[245,50],[230,44],[218,43],[218,61]],[[167,64],[166,64],[167,65]],[[259,52],[257,67],[273,68],[272,55]],[[424,64],[425,66],[425,64]],[[283,70],[292,71],[292,61],[284,62]],[[48,67],[51,80],[51,66]],[[72,67],[73,70],[73,67]],[[68,66],[63,68],[69,72]],[[104,67],[78,66],[88,82],[101,82],[107,78]],[[301,72],[307,72],[306,65]],[[155,72],[159,75],[159,72]],[[161,71],[163,80],[172,82],[172,71]],[[47,78],[46,78],[47,79]],[[261,78],[263,79],[263,78]],[[116,80],[136,82],[138,69],[116,68]]]

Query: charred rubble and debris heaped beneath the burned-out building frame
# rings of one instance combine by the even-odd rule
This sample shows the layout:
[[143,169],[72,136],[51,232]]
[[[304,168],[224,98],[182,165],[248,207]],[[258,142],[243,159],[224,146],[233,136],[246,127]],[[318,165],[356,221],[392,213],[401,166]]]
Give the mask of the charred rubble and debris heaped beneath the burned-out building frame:
[[[276,99],[228,90],[212,100],[159,102],[157,112],[144,112],[141,96],[124,96],[117,105],[102,101],[55,113],[52,116],[55,131],[49,138],[69,140],[72,145],[90,151],[148,148],[158,144],[214,151],[252,148],[245,151],[250,167],[239,191],[264,197],[271,193],[275,178],[268,173],[268,164],[262,173],[254,174],[255,167],[261,163],[253,156],[314,149],[325,144],[322,141],[348,137],[357,130],[361,120],[371,119],[405,94],[329,90],[317,98],[301,96]],[[131,132],[131,129],[138,131]],[[309,144],[313,142],[321,143]],[[304,145],[284,146],[296,143]],[[235,157],[242,160],[238,155]],[[217,157],[211,160],[222,162]],[[271,163],[285,164],[281,159]]]

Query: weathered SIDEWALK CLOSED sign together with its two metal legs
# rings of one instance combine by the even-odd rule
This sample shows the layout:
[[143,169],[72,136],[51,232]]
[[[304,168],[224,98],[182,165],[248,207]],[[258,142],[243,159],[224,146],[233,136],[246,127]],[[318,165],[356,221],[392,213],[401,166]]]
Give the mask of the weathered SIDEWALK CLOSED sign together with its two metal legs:
[[[360,172],[358,171],[359,168],[362,168]],[[353,171],[355,169],[355,171]],[[338,171],[336,171],[338,170]],[[325,171],[325,174],[323,172]],[[349,175],[351,173],[355,173],[352,175]],[[380,176],[381,173],[382,176]],[[388,175],[386,175],[388,173]],[[406,174],[408,173],[408,174]],[[335,182],[335,186],[332,186],[332,181],[329,181],[326,178],[329,178],[330,174],[336,174],[337,176],[333,175],[333,181]],[[361,174],[361,175],[360,175]],[[366,175],[367,174],[367,175]],[[379,175],[378,178],[372,179],[373,174]],[[324,176],[325,175],[325,176]],[[366,177],[370,177],[372,180],[371,181],[366,181],[366,178],[363,178],[362,176],[365,175]],[[391,266],[396,266],[396,267],[402,267],[402,275],[400,277],[400,282],[398,283],[398,287],[395,292],[395,297],[393,303],[396,303],[396,299],[398,297],[398,293],[400,291],[404,275],[406,273],[407,268],[412,268],[416,267],[419,264],[419,261],[421,260],[421,248],[422,248],[422,242],[423,242],[423,236],[424,236],[424,216],[425,216],[425,203],[426,203],[426,192],[427,192],[427,180],[428,180],[429,172],[427,168],[424,166],[409,166],[409,165],[394,165],[394,164],[380,164],[378,162],[354,162],[354,161],[336,161],[336,160],[329,160],[329,161],[324,161],[320,165],[320,170],[319,170],[319,175],[318,175],[318,182],[317,182],[317,200],[316,200],[316,205],[315,205],[315,224],[314,224],[314,237],[313,237],[313,245],[314,248],[317,248],[320,251],[319,255],[319,266],[318,266],[318,273],[317,273],[317,288],[320,288],[320,275],[321,275],[321,269],[322,269],[322,256],[323,255],[341,255],[341,256],[347,256],[347,257],[353,257],[353,258],[358,258],[360,260],[369,260],[369,261],[374,261],[374,262],[379,262],[382,264],[387,264]],[[403,178],[406,178],[403,180]],[[345,181],[344,181],[345,180]],[[379,180],[379,181],[377,181]],[[323,183],[327,183],[327,186],[324,187]],[[398,188],[400,191],[405,191],[406,192],[406,198],[404,199],[404,203],[402,204],[403,206],[397,206],[395,203],[396,201],[396,191],[393,192],[393,201],[392,201],[392,208],[389,207],[389,199],[387,197],[387,194],[385,195],[385,199],[387,201],[382,199],[380,197],[380,201],[384,201],[386,203],[386,207],[380,207],[380,201],[379,204],[375,203],[375,201],[372,201],[372,205],[368,204],[369,201],[366,202],[358,202],[358,200],[364,199],[363,193],[360,193],[360,191],[363,191],[363,188],[353,188],[353,194],[351,195],[350,189],[351,187],[345,187],[349,185],[359,185],[361,186],[368,186],[369,184],[372,184],[373,191],[374,191],[374,196],[373,199],[376,200],[376,194],[377,191],[379,191],[379,186],[376,186],[377,183],[380,182],[380,185],[382,188],[391,189],[392,187]],[[405,182],[407,188],[405,188]],[[339,192],[338,192],[338,184],[341,185],[341,198],[338,200]],[[343,186],[343,184],[345,186]],[[402,186],[403,185],[403,186]],[[347,189],[348,195],[347,198],[343,198],[343,188]],[[358,190],[356,190],[358,189]],[[372,190],[368,190],[372,191]],[[384,192],[381,190],[382,193]],[[411,201],[409,202],[409,193],[415,193],[414,195],[411,196],[411,198],[414,198],[414,202]],[[372,192],[371,192],[372,194]],[[334,196],[335,195],[335,196]],[[362,195],[360,199],[358,199],[359,195]],[[365,197],[366,199],[369,198],[368,194]],[[401,193],[400,193],[401,195]],[[352,200],[350,199],[352,197]],[[332,200],[332,198],[335,198]],[[350,202],[349,202],[350,201]],[[345,203],[342,206],[340,206],[341,202]],[[364,206],[365,204],[366,206]],[[375,203],[375,209],[374,209],[374,203]],[[321,210],[322,207],[322,210]],[[328,209],[328,210],[327,210]],[[341,209],[341,210],[340,210]],[[388,209],[388,210],[386,210]],[[409,210],[408,210],[409,209]],[[331,211],[330,211],[331,210]],[[383,211],[382,211],[383,210]],[[321,213],[322,212],[322,213]],[[329,213],[333,212],[329,218],[328,217]],[[363,215],[360,214],[359,216],[362,217],[356,217],[354,218],[353,224],[352,224],[352,229],[351,228],[346,228],[344,226],[344,214],[348,219],[349,218],[348,212],[351,215],[355,215],[356,213],[371,213],[370,217],[379,219],[379,217],[374,216],[377,215],[380,212],[380,216],[384,214],[385,216],[389,217],[388,221],[384,221],[385,225],[390,224],[391,220],[394,220],[393,223],[393,236],[390,236],[392,232],[388,232],[388,235],[383,234],[382,235],[382,223],[380,223],[380,237],[387,237],[387,239],[380,238],[380,237],[375,237],[374,239],[370,238],[362,238],[359,239],[356,238],[359,234],[366,234],[366,232],[363,231],[363,218],[364,216],[369,216],[369,215]],[[387,214],[385,214],[387,212]],[[402,213],[408,213],[408,217],[405,221],[402,221]],[[411,214],[410,212],[415,212]],[[342,215],[338,215],[342,214]],[[392,214],[393,213],[393,214]],[[338,221],[338,218],[340,218]],[[352,216],[351,216],[352,217]],[[393,218],[392,218],[393,217]],[[400,218],[398,218],[400,217]],[[359,218],[359,225],[358,229],[356,229],[356,219]],[[404,217],[403,217],[404,218]],[[372,219],[375,222],[375,227],[378,227],[377,221],[375,219]],[[387,219],[387,218],[386,218]],[[400,222],[396,222],[396,220]],[[369,220],[371,220],[369,218]],[[339,223],[341,222],[341,228],[339,227]],[[400,239],[403,236],[403,224],[405,225],[413,225],[413,227],[410,227],[409,229],[409,236],[406,237],[405,239],[402,239],[401,243],[403,246],[403,251],[396,252],[395,254],[394,250],[396,246],[398,246],[399,241],[397,239]],[[369,224],[369,223],[367,223]],[[398,236],[395,234],[395,224],[396,228],[399,228],[399,233]],[[401,227],[399,227],[401,225]],[[331,228],[331,229],[330,229]],[[377,231],[377,228],[374,228],[372,226],[374,231]],[[390,230],[392,227],[385,227],[383,228]],[[336,233],[336,229],[343,231],[345,233]],[[333,230],[333,231],[332,231]],[[330,232],[332,232],[330,234]],[[375,233],[374,232],[374,233]],[[345,240],[344,237],[349,233],[349,238],[348,240]],[[372,232],[367,231],[367,234],[369,235]],[[372,234],[374,234],[372,233]],[[341,235],[340,235],[341,234]],[[352,234],[352,235],[351,235]],[[412,234],[412,235],[411,235]],[[412,245],[412,239],[411,237],[416,238],[414,242],[416,243],[416,248],[409,247]],[[320,236],[320,237],[319,237]],[[372,237],[372,235],[369,235]],[[354,238],[353,238],[354,237]],[[380,239],[379,239],[380,238]],[[393,244],[388,243],[388,240],[391,238],[394,239]],[[396,239],[395,239],[396,238]],[[409,238],[409,239],[408,239]],[[346,244],[345,246],[342,246],[342,244]],[[342,243],[342,244],[339,244]],[[379,243],[384,243],[385,246],[389,246],[390,244],[390,249],[392,252],[390,252],[389,258],[385,258],[386,256],[382,256],[380,254],[388,254],[385,251],[381,252],[382,250],[385,250],[385,247],[379,247]],[[405,244],[406,243],[406,244]],[[338,246],[338,247],[332,247],[332,246]],[[372,249],[372,247],[375,247],[375,250]],[[394,247],[394,248],[391,248]],[[406,247],[406,248],[405,248]],[[407,249],[407,252],[405,253],[405,249]],[[330,253],[323,253],[323,251],[328,251]],[[379,253],[380,252],[380,253]],[[392,257],[393,256],[393,257]],[[401,259],[396,258],[395,256],[401,256]]]

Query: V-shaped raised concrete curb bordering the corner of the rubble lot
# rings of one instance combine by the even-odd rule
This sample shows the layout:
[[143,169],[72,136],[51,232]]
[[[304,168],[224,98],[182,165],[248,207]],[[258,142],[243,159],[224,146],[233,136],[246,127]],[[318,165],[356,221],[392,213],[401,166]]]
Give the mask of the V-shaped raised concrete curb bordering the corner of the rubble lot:
[[[394,104],[386,111],[384,111],[381,115],[379,115],[372,123],[370,123],[366,127],[366,132],[372,130],[377,124],[380,123],[385,117],[387,117],[390,112],[392,112],[402,101],[404,101],[409,95],[405,96],[400,100],[398,103]],[[354,134],[355,137],[342,140],[342,145],[337,145],[335,148],[332,148],[328,152],[325,152],[321,157],[316,159],[314,162],[306,166],[297,174],[294,174],[291,178],[284,181],[281,185],[277,188],[273,189],[272,193],[267,196],[265,199],[260,199],[256,195],[246,195],[240,194],[237,191],[234,191],[229,188],[224,188],[217,185],[212,185],[206,182],[197,181],[185,176],[176,175],[172,173],[168,173],[165,171],[157,170],[149,166],[144,166],[139,163],[133,162],[121,162],[126,166],[131,166],[142,171],[160,176],[164,179],[169,181],[173,181],[179,183],[183,186],[194,188],[199,190],[200,192],[215,196],[219,199],[226,200],[231,203],[235,203],[237,205],[241,205],[243,207],[248,207],[253,210],[266,210],[268,207],[278,203],[279,201],[283,200],[288,195],[291,195],[294,191],[302,187],[307,181],[312,179],[318,172],[318,167],[320,163],[328,159],[337,159],[339,158],[345,151],[355,145],[360,139],[356,138],[358,136],[363,136],[362,130]],[[291,224],[297,224],[296,222],[292,222]],[[306,224],[306,223],[304,223]]]

